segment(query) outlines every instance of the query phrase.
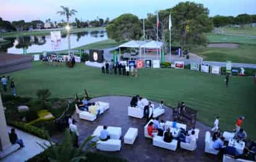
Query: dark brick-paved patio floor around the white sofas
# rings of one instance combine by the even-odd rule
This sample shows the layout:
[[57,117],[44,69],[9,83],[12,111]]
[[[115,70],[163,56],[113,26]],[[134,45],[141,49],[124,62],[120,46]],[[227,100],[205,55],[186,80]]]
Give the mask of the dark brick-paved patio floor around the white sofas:
[[[146,139],[144,137],[144,124],[145,119],[137,119],[134,117],[127,116],[127,106],[130,103],[130,97],[127,96],[103,96],[99,98],[94,98],[91,101],[104,101],[110,104],[109,110],[102,114],[98,120],[90,122],[81,120],[78,118],[78,114],[73,114],[78,123],[78,130],[80,133],[79,143],[81,144],[83,140],[88,137],[88,135],[93,134],[94,129],[99,125],[106,126],[116,126],[122,127],[122,147],[121,151],[118,152],[103,152],[107,155],[121,156],[129,161],[219,161],[218,158],[214,155],[208,155],[204,153],[204,135],[206,130],[210,130],[209,127],[201,124],[200,122],[196,123],[196,127],[200,129],[199,139],[198,139],[198,148],[195,151],[186,151],[178,147],[178,150],[171,151],[159,147],[153,147],[152,139]],[[153,102],[155,106],[158,106],[158,103]],[[165,114],[160,116],[160,119],[165,121],[172,120],[171,109],[165,107]],[[135,140],[134,145],[124,144],[123,137],[126,134],[129,127],[135,127],[139,129],[139,135]],[[57,135],[52,137],[54,142],[60,141],[62,135]],[[98,151],[98,150],[97,150]],[[101,152],[101,151],[99,151]]]

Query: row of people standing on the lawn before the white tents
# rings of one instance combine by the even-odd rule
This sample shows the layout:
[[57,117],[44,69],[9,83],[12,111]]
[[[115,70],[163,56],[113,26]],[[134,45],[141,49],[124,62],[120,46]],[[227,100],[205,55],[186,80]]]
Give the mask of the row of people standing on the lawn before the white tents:
[[126,66],[126,64],[121,64],[119,62],[114,63],[113,60],[110,62],[106,61],[104,66],[101,67],[102,74],[119,74],[126,76],[138,76],[138,70],[135,66]]

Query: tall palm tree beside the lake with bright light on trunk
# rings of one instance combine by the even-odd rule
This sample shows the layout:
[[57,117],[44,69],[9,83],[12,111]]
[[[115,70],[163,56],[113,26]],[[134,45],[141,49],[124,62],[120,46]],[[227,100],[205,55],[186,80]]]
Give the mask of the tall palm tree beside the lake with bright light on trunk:
[[77,12],[75,9],[69,9],[68,7],[60,6],[62,11],[58,11],[57,14],[66,16],[66,30],[68,30],[68,54],[70,54],[70,17]]

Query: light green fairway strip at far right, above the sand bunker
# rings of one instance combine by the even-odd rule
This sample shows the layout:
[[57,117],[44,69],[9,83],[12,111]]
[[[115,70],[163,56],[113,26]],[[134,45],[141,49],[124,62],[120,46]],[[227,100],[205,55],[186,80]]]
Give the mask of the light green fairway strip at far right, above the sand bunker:
[[235,35],[217,35],[214,33],[208,33],[209,43],[239,43],[256,45],[256,37],[250,36],[235,36]]

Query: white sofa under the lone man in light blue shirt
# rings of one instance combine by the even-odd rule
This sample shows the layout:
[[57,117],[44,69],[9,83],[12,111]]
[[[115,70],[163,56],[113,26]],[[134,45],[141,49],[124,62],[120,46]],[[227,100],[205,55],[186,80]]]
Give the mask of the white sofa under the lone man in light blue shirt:
[[121,150],[121,140],[109,139],[106,141],[98,141],[96,148],[101,151],[119,151]]

